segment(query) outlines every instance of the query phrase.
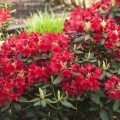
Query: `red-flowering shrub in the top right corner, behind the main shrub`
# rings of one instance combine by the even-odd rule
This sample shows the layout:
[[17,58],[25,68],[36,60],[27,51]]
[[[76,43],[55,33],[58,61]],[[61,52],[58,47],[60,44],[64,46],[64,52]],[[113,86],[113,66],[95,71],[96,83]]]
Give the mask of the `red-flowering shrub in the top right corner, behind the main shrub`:
[[101,13],[105,19],[114,18],[120,24],[120,0],[101,0],[93,4],[91,9]]

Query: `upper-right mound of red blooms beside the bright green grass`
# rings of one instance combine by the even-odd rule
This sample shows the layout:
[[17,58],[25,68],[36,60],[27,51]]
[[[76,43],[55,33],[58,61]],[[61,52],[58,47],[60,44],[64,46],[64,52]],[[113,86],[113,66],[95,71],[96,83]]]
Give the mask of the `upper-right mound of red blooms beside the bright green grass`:
[[66,20],[64,24],[64,32],[69,31],[74,31],[72,36],[75,36],[77,33],[81,33],[79,37],[89,34],[90,37],[82,41],[83,48],[86,48],[92,42],[93,44],[104,45],[107,48],[106,50],[108,48],[110,48],[110,51],[113,51],[115,48],[117,48],[116,51],[119,50],[120,26],[116,25],[112,18],[104,20],[98,12],[90,8],[76,8],[71,13],[70,19]]

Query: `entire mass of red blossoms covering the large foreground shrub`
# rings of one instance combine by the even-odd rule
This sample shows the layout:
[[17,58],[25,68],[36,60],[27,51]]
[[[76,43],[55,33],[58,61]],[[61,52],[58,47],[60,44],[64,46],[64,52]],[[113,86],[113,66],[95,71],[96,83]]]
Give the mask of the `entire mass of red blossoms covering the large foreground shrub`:
[[71,96],[105,85],[109,97],[120,98],[120,78],[99,81],[100,68],[116,72],[111,62],[120,58],[120,26],[103,18],[93,8],[76,8],[62,34],[23,31],[11,36],[0,48],[0,104],[18,100],[35,83],[51,82],[58,75],[62,90]]

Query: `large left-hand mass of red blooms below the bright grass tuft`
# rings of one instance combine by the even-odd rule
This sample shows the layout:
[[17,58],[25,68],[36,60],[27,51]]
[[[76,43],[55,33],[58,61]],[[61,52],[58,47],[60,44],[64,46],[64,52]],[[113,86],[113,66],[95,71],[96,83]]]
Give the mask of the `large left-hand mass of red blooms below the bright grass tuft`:
[[[55,33],[11,36],[0,50],[0,103],[18,100],[25,90],[57,75],[63,64],[73,58],[68,40]],[[64,49],[63,49],[64,48]]]

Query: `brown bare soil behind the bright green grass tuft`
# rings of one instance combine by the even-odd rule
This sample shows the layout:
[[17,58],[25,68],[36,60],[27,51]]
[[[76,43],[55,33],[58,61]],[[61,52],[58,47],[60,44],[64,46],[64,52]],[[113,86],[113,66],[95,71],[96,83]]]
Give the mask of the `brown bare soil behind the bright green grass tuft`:
[[0,0],[0,4],[12,4],[12,8],[16,9],[16,12],[13,14],[15,17],[14,24],[22,24],[25,23],[25,20],[30,18],[30,13],[35,13],[37,10],[43,11],[45,10],[45,6],[48,7],[48,11],[50,11],[49,6],[52,8],[55,14],[69,13],[74,7],[72,5],[64,6],[64,5],[56,5],[54,2],[48,2],[48,0]]

